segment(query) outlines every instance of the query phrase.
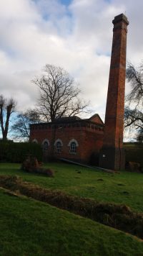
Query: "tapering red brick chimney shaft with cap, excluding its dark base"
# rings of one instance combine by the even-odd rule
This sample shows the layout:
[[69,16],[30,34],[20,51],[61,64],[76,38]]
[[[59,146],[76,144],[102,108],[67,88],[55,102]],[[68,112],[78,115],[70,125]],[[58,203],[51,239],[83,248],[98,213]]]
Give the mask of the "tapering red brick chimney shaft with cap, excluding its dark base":
[[123,147],[124,86],[126,74],[127,21],[123,14],[115,17],[112,58],[109,73],[104,147]]

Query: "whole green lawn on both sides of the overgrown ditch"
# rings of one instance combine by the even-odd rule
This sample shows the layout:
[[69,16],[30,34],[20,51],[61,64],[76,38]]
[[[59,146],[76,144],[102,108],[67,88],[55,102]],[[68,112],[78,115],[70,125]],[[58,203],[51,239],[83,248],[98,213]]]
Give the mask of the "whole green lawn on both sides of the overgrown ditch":
[[[50,163],[54,178],[24,173],[18,164],[0,164],[0,175],[19,175],[44,188],[127,204],[143,212],[143,174],[101,173]],[[0,255],[143,255],[143,242],[90,219],[0,189]]]

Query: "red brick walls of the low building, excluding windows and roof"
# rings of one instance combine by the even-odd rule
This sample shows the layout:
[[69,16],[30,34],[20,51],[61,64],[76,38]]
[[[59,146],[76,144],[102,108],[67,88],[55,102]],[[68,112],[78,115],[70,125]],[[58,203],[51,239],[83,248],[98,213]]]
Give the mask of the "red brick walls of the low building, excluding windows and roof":
[[[30,140],[37,140],[40,144],[45,140],[49,140],[48,155],[52,155],[53,145],[56,140],[61,140],[63,146],[61,147],[61,153],[56,153],[54,150],[55,157],[63,157],[73,160],[79,160],[82,162],[88,162],[93,152],[99,152],[102,147],[103,130],[102,127],[94,127],[94,125],[88,124],[88,127],[64,127],[62,125],[56,128],[43,127],[42,129],[35,129],[40,125],[33,126],[31,129]],[[42,124],[41,124],[42,127]],[[77,153],[71,154],[69,152],[69,142],[71,140],[77,140],[78,147]]]

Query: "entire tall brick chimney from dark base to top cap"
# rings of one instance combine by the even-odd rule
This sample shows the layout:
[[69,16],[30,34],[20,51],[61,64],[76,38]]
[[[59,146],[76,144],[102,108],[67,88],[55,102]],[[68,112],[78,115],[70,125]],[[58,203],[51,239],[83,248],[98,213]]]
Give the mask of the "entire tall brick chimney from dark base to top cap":
[[126,76],[127,25],[124,14],[113,20],[112,57],[109,71],[104,142],[99,166],[112,170],[124,168],[124,87]]

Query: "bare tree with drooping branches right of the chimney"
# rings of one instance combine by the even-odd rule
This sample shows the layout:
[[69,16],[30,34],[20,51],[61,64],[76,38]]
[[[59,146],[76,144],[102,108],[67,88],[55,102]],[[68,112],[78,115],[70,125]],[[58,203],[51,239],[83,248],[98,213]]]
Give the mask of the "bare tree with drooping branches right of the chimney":
[[124,112],[125,127],[137,130],[137,139],[141,140],[143,133],[143,63],[135,68],[132,63],[127,66],[127,81],[131,83],[132,90],[126,97],[127,107]]

